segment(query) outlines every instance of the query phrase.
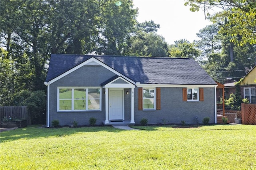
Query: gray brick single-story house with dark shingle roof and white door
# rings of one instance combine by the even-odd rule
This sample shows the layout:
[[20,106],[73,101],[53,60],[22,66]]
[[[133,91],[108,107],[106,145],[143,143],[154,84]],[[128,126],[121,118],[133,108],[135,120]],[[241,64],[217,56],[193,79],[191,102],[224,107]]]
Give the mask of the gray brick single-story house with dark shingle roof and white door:
[[[216,123],[214,80],[192,58],[52,54],[47,127],[114,123]],[[163,121],[164,120],[164,121]]]

